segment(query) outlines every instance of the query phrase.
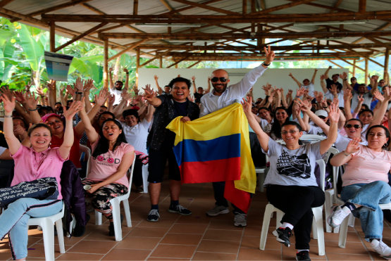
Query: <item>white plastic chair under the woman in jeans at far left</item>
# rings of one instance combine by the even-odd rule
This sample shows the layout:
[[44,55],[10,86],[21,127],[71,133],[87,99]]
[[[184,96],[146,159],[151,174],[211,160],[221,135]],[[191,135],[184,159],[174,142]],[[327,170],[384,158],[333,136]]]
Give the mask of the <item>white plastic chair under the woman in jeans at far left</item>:
[[45,260],[54,261],[54,224],[56,224],[58,245],[60,245],[60,253],[65,253],[64,235],[63,235],[63,216],[65,212],[65,204],[63,210],[49,217],[31,217],[28,220],[28,226],[42,227],[44,236]]

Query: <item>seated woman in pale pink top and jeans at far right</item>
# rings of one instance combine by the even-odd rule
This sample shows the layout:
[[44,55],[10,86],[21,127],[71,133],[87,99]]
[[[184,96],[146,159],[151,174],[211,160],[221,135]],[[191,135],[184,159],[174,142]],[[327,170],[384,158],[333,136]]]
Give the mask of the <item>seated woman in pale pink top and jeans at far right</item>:
[[342,175],[341,199],[346,203],[332,208],[328,218],[331,227],[339,227],[351,212],[359,217],[365,239],[371,242],[376,253],[391,259],[391,248],[382,241],[383,212],[379,204],[390,203],[391,187],[388,172],[391,169],[390,131],[383,125],[375,125],[366,133],[368,146],[352,139],[345,149],[335,155],[330,163],[334,166],[346,164]]

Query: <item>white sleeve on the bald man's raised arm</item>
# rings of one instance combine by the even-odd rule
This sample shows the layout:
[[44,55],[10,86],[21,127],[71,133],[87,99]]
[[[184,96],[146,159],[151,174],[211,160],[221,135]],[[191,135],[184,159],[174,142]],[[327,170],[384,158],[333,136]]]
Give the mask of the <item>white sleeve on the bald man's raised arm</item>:
[[263,75],[263,72],[267,68],[264,68],[262,65],[259,65],[257,68],[252,69],[244,75],[243,79],[237,84],[232,84],[230,88],[230,98],[243,98],[247,92],[252,89],[252,86],[256,83],[256,80]]

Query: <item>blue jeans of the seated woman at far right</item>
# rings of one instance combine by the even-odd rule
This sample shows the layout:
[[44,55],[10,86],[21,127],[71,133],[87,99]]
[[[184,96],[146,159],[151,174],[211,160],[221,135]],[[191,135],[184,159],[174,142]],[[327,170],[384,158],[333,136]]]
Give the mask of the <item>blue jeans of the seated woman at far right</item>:
[[365,240],[383,238],[383,211],[379,204],[390,203],[391,187],[385,182],[369,184],[353,184],[344,186],[341,199],[345,202],[362,205],[352,211],[354,217],[359,217]]

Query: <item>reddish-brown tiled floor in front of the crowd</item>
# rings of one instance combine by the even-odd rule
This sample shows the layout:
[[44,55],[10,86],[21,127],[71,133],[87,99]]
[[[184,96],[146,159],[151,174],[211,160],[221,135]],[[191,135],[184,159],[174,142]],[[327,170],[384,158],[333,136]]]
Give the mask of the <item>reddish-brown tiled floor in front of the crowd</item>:
[[[259,250],[263,212],[267,203],[266,194],[257,192],[252,200],[245,228],[234,227],[232,213],[218,217],[206,217],[205,212],[213,207],[211,184],[187,184],[182,186],[180,203],[192,210],[191,216],[180,216],[167,211],[169,204],[168,182],[163,182],[161,193],[161,219],[147,222],[150,203],[148,194],[130,194],[132,227],[124,222],[123,241],[116,242],[107,236],[108,222],[94,224],[94,212],[81,238],[66,238],[66,253],[59,253],[58,261],[259,261],[295,260],[294,246],[282,247],[271,234],[275,219],[271,220],[266,250]],[[364,234],[357,227],[349,227],[346,248],[338,247],[338,234],[325,233],[325,256],[318,256],[317,241],[311,240],[312,260],[384,260],[373,252],[364,241]],[[391,245],[391,227],[385,224],[383,239]],[[57,240],[56,240],[57,243]],[[294,237],[291,238],[294,243]],[[42,233],[30,229],[27,260],[44,260]],[[0,260],[11,260],[7,239],[0,241]]]

